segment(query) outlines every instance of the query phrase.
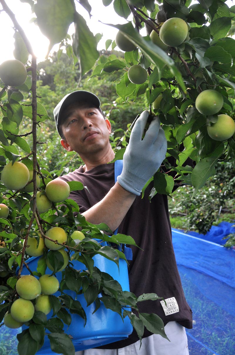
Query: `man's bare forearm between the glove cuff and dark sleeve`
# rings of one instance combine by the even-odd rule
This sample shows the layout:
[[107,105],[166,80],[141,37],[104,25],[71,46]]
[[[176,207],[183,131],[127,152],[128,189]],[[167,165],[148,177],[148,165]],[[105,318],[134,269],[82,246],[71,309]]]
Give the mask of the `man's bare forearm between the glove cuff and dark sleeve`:
[[114,231],[122,222],[135,198],[136,195],[116,182],[101,201],[82,214],[88,222],[105,223]]

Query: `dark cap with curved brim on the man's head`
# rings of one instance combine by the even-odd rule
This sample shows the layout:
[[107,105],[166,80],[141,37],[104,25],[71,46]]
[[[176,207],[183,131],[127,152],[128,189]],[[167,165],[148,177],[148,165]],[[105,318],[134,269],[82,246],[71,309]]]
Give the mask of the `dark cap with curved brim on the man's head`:
[[78,90],[78,91],[70,92],[69,94],[65,95],[53,111],[55,122],[56,122],[56,129],[59,134],[60,134],[59,126],[63,123],[64,110],[67,109],[70,104],[74,104],[76,102],[78,103],[90,102],[92,105],[94,105],[94,107],[97,108],[99,108],[101,104],[98,97],[89,91]]

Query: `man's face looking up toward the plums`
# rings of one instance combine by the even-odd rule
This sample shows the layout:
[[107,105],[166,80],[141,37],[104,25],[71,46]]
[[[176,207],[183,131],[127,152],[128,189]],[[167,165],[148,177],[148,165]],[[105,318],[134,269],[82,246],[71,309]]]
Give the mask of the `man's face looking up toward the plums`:
[[111,125],[97,108],[74,105],[65,112],[62,131],[62,146],[87,158],[108,148]]

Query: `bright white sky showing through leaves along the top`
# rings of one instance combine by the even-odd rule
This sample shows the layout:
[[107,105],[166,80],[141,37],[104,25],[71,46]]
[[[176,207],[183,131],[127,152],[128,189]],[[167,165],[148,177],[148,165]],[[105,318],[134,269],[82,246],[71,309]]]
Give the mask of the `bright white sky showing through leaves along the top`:
[[[10,9],[15,13],[18,23],[24,29],[25,34],[27,35],[35,55],[38,58],[38,61],[45,59],[47,53],[49,41],[44,37],[38,26],[35,26],[33,23],[30,23],[30,19],[33,17],[31,13],[31,7],[27,3],[23,3],[20,0],[5,0]],[[50,1],[50,0],[48,0]],[[104,25],[104,23],[125,23],[126,20],[118,15],[113,10],[113,4],[104,7],[102,0],[88,0],[92,7],[92,18],[90,20],[89,15],[86,10],[76,2],[78,12],[85,18],[87,25],[91,31],[96,33],[103,33],[103,38],[99,42],[98,49],[105,48],[105,41],[107,39],[114,39],[117,33],[117,29]],[[226,3],[228,6],[233,5],[232,0],[227,0]],[[1,10],[1,5],[0,5]],[[100,20],[101,22],[99,22]],[[14,40],[13,34],[14,30],[12,28],[13,24],[10,18],[6,15],[4,11],[0,12],[0,33],[1,33],[1,50],[0,50],[0,63],[7,59],[14,59],[13,49],[14,49]],[[73,25],[72,25],[73,26]],[[71,33],[73,29],[71,28]],[[58,46],[54,47],[54,50],[58,49]]]

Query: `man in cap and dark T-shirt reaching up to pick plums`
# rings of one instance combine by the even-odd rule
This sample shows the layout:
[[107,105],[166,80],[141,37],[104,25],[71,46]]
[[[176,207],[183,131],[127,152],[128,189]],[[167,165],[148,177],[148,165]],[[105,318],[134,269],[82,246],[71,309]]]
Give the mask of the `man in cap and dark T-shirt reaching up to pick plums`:
[[[127,339],[79,351],[76,355],[187,355],[185,328],[192,328],[188,306],[174,257],[167,196],[156,194],[151,203],[152,185],[141,197],[145,183],[165,159],[167,142],[160,121],[155,118],[142,140],[149,116],[144,111],[131,132],[123,158],[123,169],[114,182],[114,152],[109,143],[111,125],[104,119],[98,97],[87,91],[66,95],[54,110],[61,144],[67,151],[79,153],[84,165],[61,177],[81,181],[88,187],[71,192],[88,222],[106,223],[111,230],[131,235],[141,248],[132,248],[129,266],[130,291],[136,296],[156,293],[166,300],[139,302],[140,312],[156,313],[165,324],[170,342],[145,329],[142,346],[133,332]],[[172,306],[173,307],[170,307]],[[171,308],[171,311],[169,309]]]

